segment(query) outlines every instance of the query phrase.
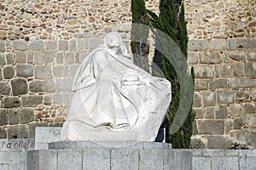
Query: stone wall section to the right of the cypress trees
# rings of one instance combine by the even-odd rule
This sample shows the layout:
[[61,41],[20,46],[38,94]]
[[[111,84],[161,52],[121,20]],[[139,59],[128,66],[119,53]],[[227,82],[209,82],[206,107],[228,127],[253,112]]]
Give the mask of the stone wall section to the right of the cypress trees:
[[194,148],[256,148],[255,5],[185,0],[195,68]]

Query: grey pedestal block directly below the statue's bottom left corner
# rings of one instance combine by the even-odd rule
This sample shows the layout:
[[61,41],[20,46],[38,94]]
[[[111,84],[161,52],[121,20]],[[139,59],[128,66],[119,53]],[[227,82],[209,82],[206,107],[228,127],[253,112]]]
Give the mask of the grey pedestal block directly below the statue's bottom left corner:
[[69,150],[69,149],[58,150],[58,156],[57,156],[58,169],[82,170],[83,169],[82,157],[83,157],[83,150]]

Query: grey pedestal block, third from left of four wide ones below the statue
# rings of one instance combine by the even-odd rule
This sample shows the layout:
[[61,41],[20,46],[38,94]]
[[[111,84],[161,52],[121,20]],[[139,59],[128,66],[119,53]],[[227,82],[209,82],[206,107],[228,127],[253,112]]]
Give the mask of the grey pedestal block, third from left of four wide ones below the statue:
[[111,150],[111,162],[110,162],[111,170],[143,169],[138,167],[138,160],[139,160],[138,150],[127,150],[127,149]]

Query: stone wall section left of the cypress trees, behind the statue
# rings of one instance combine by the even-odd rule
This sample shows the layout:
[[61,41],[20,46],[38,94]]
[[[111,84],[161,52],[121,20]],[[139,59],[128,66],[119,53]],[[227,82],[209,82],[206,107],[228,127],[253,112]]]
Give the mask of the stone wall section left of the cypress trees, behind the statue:
[[61,126],[79,63],[108,32],[130,30],[128,1],[0,0],[0,138]]

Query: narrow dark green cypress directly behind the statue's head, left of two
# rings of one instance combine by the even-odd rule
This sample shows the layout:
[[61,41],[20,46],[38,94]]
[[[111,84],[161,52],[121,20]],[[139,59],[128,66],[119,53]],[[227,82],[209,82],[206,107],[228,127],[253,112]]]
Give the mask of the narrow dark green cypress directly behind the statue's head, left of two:
[[[131,13],[132,23],[149,24],[147,9],[143,0],[131,0]],[[132,26],[131,28],[131,37],[133,40],[137,40],[137,42],[131,42],[134,63],[145,71],[148,71],[149,46],[143,42],[148,42],[148,32],[149,30],[140,29],[138,26]]]

